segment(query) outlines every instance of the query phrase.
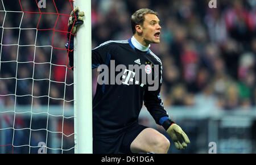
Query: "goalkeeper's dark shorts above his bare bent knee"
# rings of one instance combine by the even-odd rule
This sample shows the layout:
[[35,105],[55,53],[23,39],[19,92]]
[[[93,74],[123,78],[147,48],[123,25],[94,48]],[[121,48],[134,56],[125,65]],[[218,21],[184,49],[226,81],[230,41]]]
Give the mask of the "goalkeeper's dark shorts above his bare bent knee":
[[121,154],[131,153],[131,143],[147,126],[134,123],[121,133],[111,136],[94,136],[93,153],[94,154]]

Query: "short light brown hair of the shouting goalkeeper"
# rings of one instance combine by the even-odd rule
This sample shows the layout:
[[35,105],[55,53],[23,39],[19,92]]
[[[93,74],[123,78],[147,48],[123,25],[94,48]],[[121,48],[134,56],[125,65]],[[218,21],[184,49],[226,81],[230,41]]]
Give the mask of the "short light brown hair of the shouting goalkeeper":
[[135,11],[134,14],[131,15],[131,30],[133,31],[133,34],[136,33],[135,27],[137,25],[143,25],[143,22],[145,20],[144,15],[146,14],[155,14],[156,16],[158,16],[158,12],[155,12],[150,9],[139,9]]

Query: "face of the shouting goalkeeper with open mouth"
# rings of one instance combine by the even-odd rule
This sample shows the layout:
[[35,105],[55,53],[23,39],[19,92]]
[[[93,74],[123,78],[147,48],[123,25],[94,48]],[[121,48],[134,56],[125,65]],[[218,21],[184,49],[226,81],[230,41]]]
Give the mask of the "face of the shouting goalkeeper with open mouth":
[[160,43],[160,25],[158,16],[145,14],[142,26],[142,36],[146,43]]

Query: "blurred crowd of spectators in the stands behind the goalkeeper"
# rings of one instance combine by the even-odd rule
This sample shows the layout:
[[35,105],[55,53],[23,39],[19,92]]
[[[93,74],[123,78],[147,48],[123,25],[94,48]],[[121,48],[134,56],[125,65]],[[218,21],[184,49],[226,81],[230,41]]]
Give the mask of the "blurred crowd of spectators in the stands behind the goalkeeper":
[[[216,9],[210,9],[208,2],[92,0],[92,47],[129,39],[131,14],[152,9],[162,26],[161,43],[150,49],[163,63],[164,107],[251,109],[256,104],[256,2],[217,0]],[[18,4],[4,3],[5,10],[21,10]],[[21,5],[23,11],[38,12],[32,1]],[[64,46],[71,10],[69,1],[55,5],[47,1],[41,12],[66,15],[1,12],[0,107],[72,103],[67,101],[73,99],[73,74],[65,67]]]

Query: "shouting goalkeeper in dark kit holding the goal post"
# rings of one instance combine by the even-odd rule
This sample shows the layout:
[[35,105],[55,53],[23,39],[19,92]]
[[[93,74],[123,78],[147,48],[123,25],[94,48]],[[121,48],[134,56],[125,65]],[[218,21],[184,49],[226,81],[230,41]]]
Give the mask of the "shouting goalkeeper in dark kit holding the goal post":
[[[65,46],[71,66],[73,39],[77,28],[83,23],[83,16],[84,12],[75,9],[68,22],[68,43]],[[125,65],[126,68],[149,62],[151,67],[160,66],[158,77],[156,76],[160,83],[155,91],[148,90],[149,84],[97,84],[93,98],[93,153],[167,153],[170,141],[157,130],[138,124],[143,101],[156,124],[162,125],[175,147],[183,150],[189,139],[163,107],[159,95],[162,62],[149,49],[150,44],[160,43],[158,14],[150,9],[136,11],[131,16],[131,28],[131,39],[107,41],[92,50],[92,68],[101,64],[110,67],[110,60],[114,60],[115,64]],[[148,70],[145,71],[147,73]],[[154,74],[156,73],[152,69],[152,75]],[[142,77],[139,82],[142,82]]]

